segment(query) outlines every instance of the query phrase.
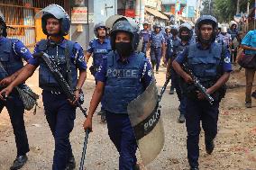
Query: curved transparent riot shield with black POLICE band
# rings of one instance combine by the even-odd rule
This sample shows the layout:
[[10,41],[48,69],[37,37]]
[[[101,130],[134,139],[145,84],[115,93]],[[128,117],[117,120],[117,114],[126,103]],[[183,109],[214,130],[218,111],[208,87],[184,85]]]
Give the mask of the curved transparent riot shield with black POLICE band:
[[156,82],[152,78],[147,89],[127,107],[145,166],[160,154],[164,145],[164,130],[158,110],[158,100]]

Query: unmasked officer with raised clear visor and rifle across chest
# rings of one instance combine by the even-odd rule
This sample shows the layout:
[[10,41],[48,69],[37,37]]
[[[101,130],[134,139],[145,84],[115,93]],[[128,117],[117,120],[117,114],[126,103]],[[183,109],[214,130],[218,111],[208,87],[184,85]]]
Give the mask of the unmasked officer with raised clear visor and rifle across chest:
[[52,169],[74,169],[76,164],[69,142],[69,133],[74,128],[74,120],[76,118],[75,103],[79,99],[82,85],[87,76],[87,64],[82,47],[77,42],[64,38],[69,33],[70,27],[68,13],[58,4],[50,4],[38,14],[41,15],[42,31],[48,36],[48,39],[38,42],[34,52],[44,51],[50,56],[53,64],[59,67],[60,72],[74,90],[76,100],[67,100],[67,96],[59,88],[50,70],[40,62],[39,58],[31,58],[29,64],[23,68],[23,71],[15,78],[14,82],[2,90],[0,96],[3,97],[3,93],[10,94],[14,86],[32,76],[36,67],[39,66],[39,85],[42,88],[42,102],[46,119],[55,140]]

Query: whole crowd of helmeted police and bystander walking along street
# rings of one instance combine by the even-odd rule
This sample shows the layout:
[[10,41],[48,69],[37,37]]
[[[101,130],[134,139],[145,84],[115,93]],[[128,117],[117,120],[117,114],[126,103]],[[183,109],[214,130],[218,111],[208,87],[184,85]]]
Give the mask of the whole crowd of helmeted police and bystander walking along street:
[[[226,91],[225,83],[232,72],[232,63],[237,60],[239,48],[245,49],[245,56],[256,54],[256,31],[249,31],[242,39],[242,32],[237,31],[236,23],[227,29],[219,26],[211,15],[198,18],[195,26],[184,22],[163,28],[159,23],[154,23],[151,30],[151,24],[144,22],[143,30],[139,31],[138,25],[130,19],[120,17],[113,22],[112,28],[107,28],[103,22],[96,24],[96,38],[90,41],[84,55],[77,42],[64,38],[69,33],[70,19],[61,6],[50,4],[41,13],[41,29],[48,39],[37,42],[34,53],[48,54],[69,83],[75,100],[67,99],[50,69],[40,58],[33,58],[23,42],[6,38],[5,17],[1,13],[0,58],[4,68],[0,67],[0,85],[3,86],[0,106],[1,110],[6,107],[10,115],[17,148],[17,157],[10,169],[22,168],[29,152],[23,122],[23,101],[14,87],[23,85],[37,67],[40,67],[39,85],[44,112],[55,140],[52,169],[75,169],[76,161],[69,134],[74,128],[77,103],[87,77],[87,62],[91,57],[93,63],[89,70],[95,77],[96,88],[83,126],[85,130],[92,130],[92,118],[101,103],[99,114],[102,121],[106,121],[108,135],[119,153],[119,169],[140,169],[135,155],[138,145],[127,105],[155,81],[157,77],[153,75],[159,74],[161,59],[163,67],[166,67],[166,78],[171,79],[169,94],[175,91],[178,94],[178,122],[186,122],[190,169],[199,169],[200,123],[205,130],[206,153],[212,154],[217,135],[219,103]],[[140,40],[142,49],[138,49]],[[22,58],[28,62],[24,67]],[[255,69],[250,67],[245,71],[245,106],[248,108],[251,107],[251,96],[256,98],[256,91],[251,94]],[[203,91],[198,89],[197,80]],[[212,98],[210,102],[206,100],[209,95]]]

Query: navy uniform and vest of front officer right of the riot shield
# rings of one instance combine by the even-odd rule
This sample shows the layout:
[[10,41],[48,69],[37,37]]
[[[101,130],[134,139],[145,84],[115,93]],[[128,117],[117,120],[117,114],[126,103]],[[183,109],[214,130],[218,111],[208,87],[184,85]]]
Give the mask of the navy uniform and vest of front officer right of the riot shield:
[[[221,57],[222,53],[224,58]],[[218,79],[219,73],[217,67],[222,68],[223,72],[232,71],[229,51],[227,49],[223,51],[222,46],[216,42],[212,43],[208,49],[202,49],[199,43],[192,43],[176,58],[179,64],[186,62],[186,60],[188,67],[206,88],[215,84],[215,81]],[[195,92],[197,89],[192,88],[192,91],[190,91],[190,87],[187,86],[185,114],[187,126],[187,158],[191,167],[197,167],[200,121],[202,121],[202,127],[205,130],[206,141],[215,139],[220,94],[218,91],[212,94],[215,98],[215,103],[211,105],[206,100],[198,100],[197,94],[192,93],[192,91]]]

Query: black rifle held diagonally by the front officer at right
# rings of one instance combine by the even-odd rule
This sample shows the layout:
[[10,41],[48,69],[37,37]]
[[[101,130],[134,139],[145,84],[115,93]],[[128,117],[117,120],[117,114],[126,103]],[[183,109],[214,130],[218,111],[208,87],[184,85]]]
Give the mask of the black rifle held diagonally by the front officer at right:
[[187,63],[183,63],[182,64],[183,69],[187,72],[187,74],[189,76],[191,76],[191,78],[193,79],[193,84],[195,86],[197,86],[197,89],[199,90],[199,92],[201,92],[202,94],[205,95],[206,100],[210,103],[213,104],[213,102],[215,101],[214,98],[210,95],[206,93],[206,87],[204,85],[201,85],[199,79],[197,78],[197,76],[195,76],[192,72],[191,69],[188,68]]

